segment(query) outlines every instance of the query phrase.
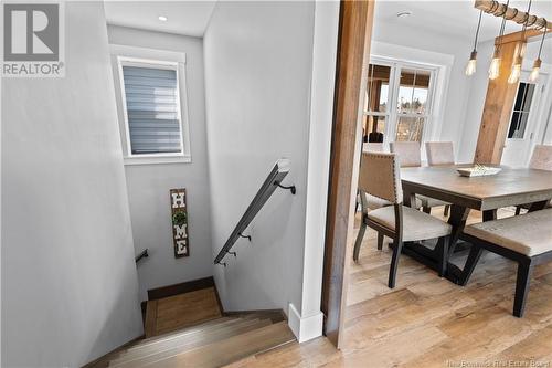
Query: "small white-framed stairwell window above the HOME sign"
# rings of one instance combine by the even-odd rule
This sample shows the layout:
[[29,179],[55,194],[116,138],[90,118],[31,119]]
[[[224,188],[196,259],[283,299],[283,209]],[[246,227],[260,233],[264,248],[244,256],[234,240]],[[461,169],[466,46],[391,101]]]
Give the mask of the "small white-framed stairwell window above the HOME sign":
[[125,162],[190,161],[179,63],[118,56],[117,64]]

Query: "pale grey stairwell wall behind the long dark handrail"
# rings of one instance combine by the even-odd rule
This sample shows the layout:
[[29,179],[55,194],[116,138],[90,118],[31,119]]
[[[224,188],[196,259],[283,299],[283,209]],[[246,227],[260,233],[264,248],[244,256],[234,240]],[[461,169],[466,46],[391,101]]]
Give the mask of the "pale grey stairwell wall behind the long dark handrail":
[[247,229],[252,243],[215,266],[227,311],[301,307],[314,10],[219,2],[204,36],[213,254],[278,158],[297,186],[296,196],[277,190]]

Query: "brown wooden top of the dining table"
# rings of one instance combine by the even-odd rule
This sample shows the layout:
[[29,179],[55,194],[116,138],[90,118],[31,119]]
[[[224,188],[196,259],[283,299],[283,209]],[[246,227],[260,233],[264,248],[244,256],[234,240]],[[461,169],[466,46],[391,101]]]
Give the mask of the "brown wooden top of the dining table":
[[[466,165],[463,165],[466,167]],[[401,169],[405,192],[414,192],[478,210],[524,204],[552,198],[552,171],[502,167],[492,176],[460,177],[457,166]]]

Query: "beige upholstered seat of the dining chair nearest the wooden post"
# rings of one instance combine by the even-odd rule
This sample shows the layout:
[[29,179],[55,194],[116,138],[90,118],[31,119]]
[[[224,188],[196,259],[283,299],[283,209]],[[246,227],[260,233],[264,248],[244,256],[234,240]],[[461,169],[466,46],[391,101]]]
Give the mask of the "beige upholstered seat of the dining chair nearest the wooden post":
[[[395,230],[395,209],[393,206],[383,207],[368,212],[368,218],[383,227]],[[403,207],[403,241],[413,242],[418,240],[435,239],[450,234],[452,227],[410,207]]]

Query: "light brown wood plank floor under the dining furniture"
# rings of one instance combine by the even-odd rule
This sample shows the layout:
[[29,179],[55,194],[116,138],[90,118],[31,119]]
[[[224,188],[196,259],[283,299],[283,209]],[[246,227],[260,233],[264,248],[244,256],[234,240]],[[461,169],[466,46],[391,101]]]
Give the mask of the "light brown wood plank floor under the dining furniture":
[[[501,210],[499,217],[513,214]],[[435,210],[435,215],[443,215]],[[360,218],[357,219],[357,228]],[[479,222],[474,211],[470,222]],[[357,230],[355,230],[357,231]],[[352,253],[351,253],[352,254]],[[466,254],[453,262],[463,265]],[[397,285],[386,286],[391,252],[367,231],[351,261],[346,341],[289,344],[233,367],[550,367],[552,264],[538,266],[526,316],[511,315],[516,264],[485,253],[466,287],[402,256]]]

